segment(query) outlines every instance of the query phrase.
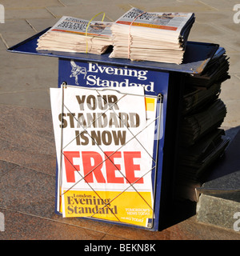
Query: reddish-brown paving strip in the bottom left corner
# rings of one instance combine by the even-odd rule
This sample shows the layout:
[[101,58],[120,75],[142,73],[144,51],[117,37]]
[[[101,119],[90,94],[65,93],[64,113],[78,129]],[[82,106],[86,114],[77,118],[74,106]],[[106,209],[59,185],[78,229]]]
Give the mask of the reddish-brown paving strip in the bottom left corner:
[[106,234],[0,207],[5,231],[0,240],[101,240]]

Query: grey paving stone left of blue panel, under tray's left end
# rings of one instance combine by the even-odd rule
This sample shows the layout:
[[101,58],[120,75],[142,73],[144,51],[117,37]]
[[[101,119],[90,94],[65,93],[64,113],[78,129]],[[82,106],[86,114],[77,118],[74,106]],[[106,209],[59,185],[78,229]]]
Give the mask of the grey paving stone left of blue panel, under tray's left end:
[[[49,88],[58,86],[58,60],[0,51],[2,104],[50,109]],[[22,58],[24,57],[24,58]]]

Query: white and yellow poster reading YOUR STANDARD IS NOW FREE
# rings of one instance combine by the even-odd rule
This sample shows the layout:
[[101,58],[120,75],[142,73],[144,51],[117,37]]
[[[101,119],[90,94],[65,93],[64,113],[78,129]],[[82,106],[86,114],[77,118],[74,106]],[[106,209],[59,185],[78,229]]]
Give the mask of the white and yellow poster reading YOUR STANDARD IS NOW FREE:
[[62,216],[147,226],[157,99],[143,87],[78,86],[51,88],[50,99]]

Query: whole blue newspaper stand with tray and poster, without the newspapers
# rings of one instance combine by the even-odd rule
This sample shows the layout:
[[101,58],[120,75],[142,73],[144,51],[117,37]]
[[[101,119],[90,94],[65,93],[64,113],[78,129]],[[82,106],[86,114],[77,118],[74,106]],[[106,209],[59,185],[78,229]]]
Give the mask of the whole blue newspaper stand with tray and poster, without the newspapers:
[[182,91],[218,45],[188,42],[181,65],[38,52],[46,30],[8,49],[58,58],[50,90],[57,149],[56,212],[146,230],[174,200]]

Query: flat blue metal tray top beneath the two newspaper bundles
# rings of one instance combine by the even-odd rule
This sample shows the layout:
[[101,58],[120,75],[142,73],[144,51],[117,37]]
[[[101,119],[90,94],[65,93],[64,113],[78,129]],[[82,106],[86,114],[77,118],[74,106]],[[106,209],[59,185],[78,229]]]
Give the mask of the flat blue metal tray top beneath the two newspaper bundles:
[[19,42],[17,45],[7,49],[9,52],[19,54],[35,54],[42,56],[50,56],[57,58],[76,59],[86,62],[102,62],[111,65],[126,65],[151,70],[165,70],[175,71],[187,74],[201,74],[204,70],[207,62],[214,56],[218,50],[218,44],[207,43],[207,42],[187,42],[186,51],[184,54],[182,64],[164,63],[164,62],[146,62],[146,61],[131,61],[126,58],[109,58],[110,53],[102,55],[97,54],[80,54],[80,53],[69,53],[69,52],[55,52],[55,51],[41,51],[38,52],[37,42],[38,38],[44,34],[47,30],[42,30],[40,33]]

